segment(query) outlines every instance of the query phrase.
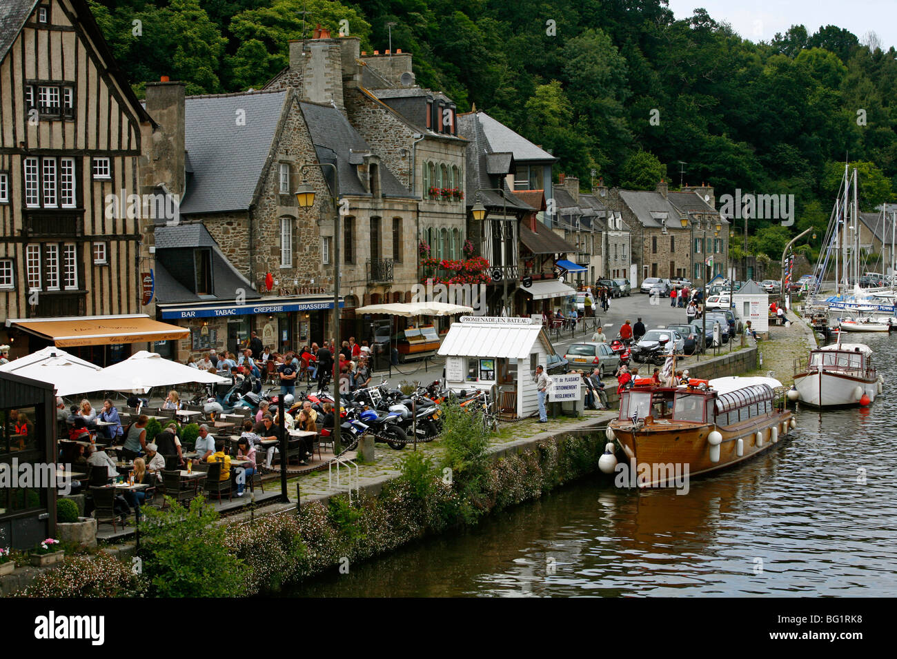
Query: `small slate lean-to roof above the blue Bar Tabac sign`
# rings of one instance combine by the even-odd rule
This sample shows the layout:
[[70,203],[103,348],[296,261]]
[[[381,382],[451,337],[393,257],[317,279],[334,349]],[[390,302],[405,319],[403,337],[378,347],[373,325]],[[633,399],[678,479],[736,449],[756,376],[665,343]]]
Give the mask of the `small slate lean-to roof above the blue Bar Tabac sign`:
[[210,247],[212,249],[212,286],[215,295],[196,295],[187,289],[165,268],[159,259],[155,264],[155,296],[161,304],[208,302],[217,299],[234,299],[237,289],[246,291],[246,299],[258,299],[261,295],[252,284],[222,254],[212,234],[202,224],[179,224],[175,227],[156,227],[156,251],[165,249]]

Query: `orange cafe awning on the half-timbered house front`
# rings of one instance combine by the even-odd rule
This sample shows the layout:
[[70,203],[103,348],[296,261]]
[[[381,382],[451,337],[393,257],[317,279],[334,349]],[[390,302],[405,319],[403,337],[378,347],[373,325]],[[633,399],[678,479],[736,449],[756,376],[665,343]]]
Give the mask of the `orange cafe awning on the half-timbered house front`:
[[79,345],[109,345],[186,338],[190,331],[178,325],[153,320],[150,316],[85,316],[83,318],[16,318],[7,326],[52,341],[60,348]]

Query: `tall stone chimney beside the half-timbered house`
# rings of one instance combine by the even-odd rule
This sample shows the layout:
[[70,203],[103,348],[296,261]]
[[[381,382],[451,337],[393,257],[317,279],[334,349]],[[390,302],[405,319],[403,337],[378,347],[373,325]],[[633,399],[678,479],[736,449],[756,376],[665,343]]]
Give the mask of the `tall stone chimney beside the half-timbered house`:
[[148,158],[142,167],[143,192],[152,192],[164,183],[172,195],[183,195],[186,186],[185,156],[185,85],[183,82],[146,83],[146,111],[159,127],[144,152]]

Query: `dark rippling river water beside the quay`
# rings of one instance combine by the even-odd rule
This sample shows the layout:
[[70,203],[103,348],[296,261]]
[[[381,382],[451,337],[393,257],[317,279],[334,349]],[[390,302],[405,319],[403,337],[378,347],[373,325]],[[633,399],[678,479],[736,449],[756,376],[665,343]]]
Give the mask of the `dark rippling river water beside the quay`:
[[296,596],[897,594],[897,335],[861,334],[884,395],[797,412],[765,454],[675,490],[579,481]]

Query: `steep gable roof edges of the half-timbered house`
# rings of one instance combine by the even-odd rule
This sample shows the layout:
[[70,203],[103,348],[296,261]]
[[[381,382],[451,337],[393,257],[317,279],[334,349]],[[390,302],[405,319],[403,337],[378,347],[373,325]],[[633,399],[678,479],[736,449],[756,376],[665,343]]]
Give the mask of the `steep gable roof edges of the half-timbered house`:
[[[131,108],[134,109],[138,121],[149,122],[153,127],[156,126],[155,121],[152,120],[152,117],[146,113],[140,101],[137,100],[134,90],[131,89],[131,85],[125,75],[118,68],[118,63],[115,57],[112,56],[112,51],[109,50],[109,44],[106,43],[102,30],[100,30],[97,22],[93,19],[90,6],[84,0],[71,0],[71,2],[77,17],[76,20],[87,33],[87,36],[90,37],[94,48],[96,48],[106,63],[107,73],[118,82],[118,87],[125,95],[125,99]],[[0,1],[0,62],[3,62],[5,59],[6,53],[13,46],[13,42],[25,26],[25,21],[28,20],[38,3],[39,0]]]

